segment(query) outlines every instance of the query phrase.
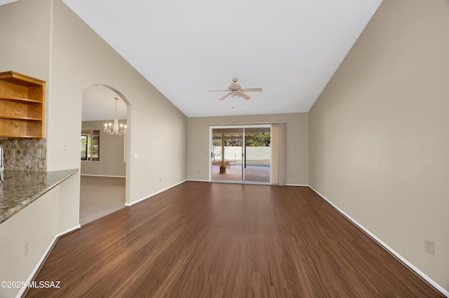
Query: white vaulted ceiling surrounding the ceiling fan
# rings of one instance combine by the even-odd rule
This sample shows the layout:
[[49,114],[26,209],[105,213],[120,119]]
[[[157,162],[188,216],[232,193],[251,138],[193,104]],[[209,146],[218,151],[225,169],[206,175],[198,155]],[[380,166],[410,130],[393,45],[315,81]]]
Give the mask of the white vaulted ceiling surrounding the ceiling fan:
[[196,117],[309,111],[382,0],[63,1]]

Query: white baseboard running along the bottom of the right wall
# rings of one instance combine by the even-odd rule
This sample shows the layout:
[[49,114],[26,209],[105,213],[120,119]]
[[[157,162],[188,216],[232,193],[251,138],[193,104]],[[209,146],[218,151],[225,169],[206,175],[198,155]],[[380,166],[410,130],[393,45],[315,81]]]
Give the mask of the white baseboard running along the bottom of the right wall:
[[316,194],[318,194],[320,197],[322,197],[323,199],[325,199],[330,205],[332,205],[335,209],[337,209],[338,212],[342,213],[342,215],[344,215],[344,217],[346,217],[348,220],[350,220],[352,223],[354,223],[354,225],[356,225],[359,229],[361,229],[363,232],[365,232],[366,234],[368,234],[371,238],[373,238],[375,241],[377,241],[377,243],[379,243],[380,246],[382,246],[384,249],[388,250],[389,253],[391,253],[391,255],[394,255],[395,257],[398,258],[398,260],[401,260],[401,262],[403,262],[404,264],[406,264],[406,266],[408,266],[410,269],[412,269],[413,271],[416,272],[416,274],[418,274],[419,276],[421,276],[424,280],[426,280],[428,283],[430,283],[431,285],[434,286],[434,288],[436,288],[437,290],[439,290],[441,293],[443,293],[443,295],[445,295],[446,297],[449,297],[449,292],[447,290],[445,290],[443,287],[441,287],[441,285],[438,285],[438,283],[435,283],[435,281],[433,281],[431,278],[429,278],[429,276],[427,276],[426,274],[424,274],[424,272],[422,272],[420,269],[417,269],[417,267],[415,267],[415,265],[413,265],[412,263],[408,262],[408,260],[406,260],[406,258],[404,258],[403,256],[399,255],[398,253],[396,253],[396,251],[394,251],[393,248],[387,246],[386,243],[384,243],[384,241],[380,240],[379,238],[377,238],[377,236],[375,236],[375,234],[371,233],[368,229],[366,229],[366,227],[363,227],[363,225],[361,225],[360,223],[358,223],[356,220],[354,220],[354,218],[351,218],[351,216],[347,215],[347,213],[345,213],[344,211],[342,211],[342,209],[338,208],[335,204],[333,204],[332,201],[328,200],[326,197],[323,196],[323,194],[320,194],[319,192],[317,192],[314,187],[311,187],[310,185],[308,185],[311,190],[313,190],[314,192],[316,192]]

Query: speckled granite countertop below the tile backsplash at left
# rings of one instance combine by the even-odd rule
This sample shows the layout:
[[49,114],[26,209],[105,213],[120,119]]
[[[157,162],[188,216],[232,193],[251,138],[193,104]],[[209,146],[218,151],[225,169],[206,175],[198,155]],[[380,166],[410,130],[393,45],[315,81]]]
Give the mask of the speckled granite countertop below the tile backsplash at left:
[[5,171],[0,183],[0,223],[31,204],[53,187],[76,173],[61,171]]

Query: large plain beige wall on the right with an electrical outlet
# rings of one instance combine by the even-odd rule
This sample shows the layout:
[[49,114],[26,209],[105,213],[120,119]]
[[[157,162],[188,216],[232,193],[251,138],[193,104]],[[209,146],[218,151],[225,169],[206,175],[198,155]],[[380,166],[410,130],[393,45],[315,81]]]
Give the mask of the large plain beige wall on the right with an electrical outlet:
[[309,111],[311,187],[446,290],[448,36],[449,1],[383,1]]

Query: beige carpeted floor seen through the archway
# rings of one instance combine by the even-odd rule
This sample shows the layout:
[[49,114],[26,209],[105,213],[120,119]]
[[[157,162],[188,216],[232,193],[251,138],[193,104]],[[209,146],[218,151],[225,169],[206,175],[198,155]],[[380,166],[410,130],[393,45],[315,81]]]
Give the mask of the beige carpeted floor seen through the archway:
[[126,178],[81,176],[79,224],[101,218],[125,206]]

